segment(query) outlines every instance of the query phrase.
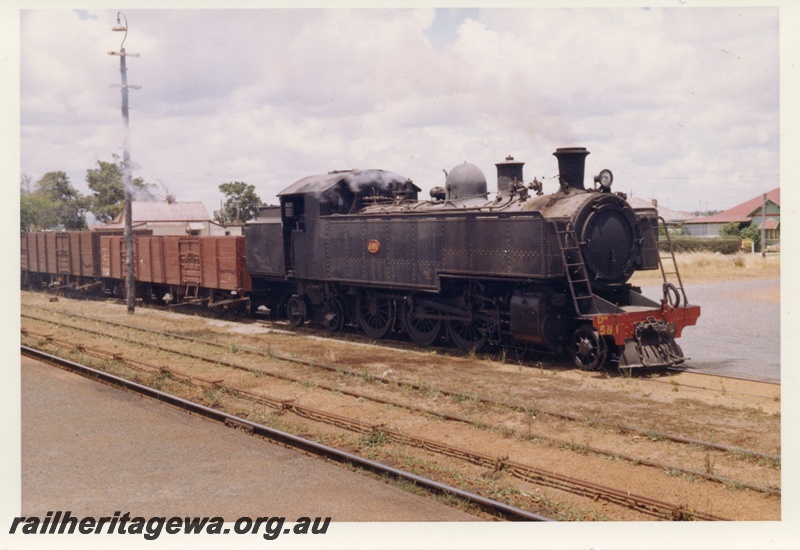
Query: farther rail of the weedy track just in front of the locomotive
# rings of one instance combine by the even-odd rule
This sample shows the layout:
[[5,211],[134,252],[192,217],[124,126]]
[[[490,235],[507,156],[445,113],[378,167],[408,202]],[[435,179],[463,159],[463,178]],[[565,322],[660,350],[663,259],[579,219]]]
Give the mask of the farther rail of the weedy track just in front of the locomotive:
[[[181,334],[175,334],[175,333],[170,333],[170,332],[165,332],[165,331],[158,331],[158,330],[147,329],[147,328],[142,328],[142,327],[134,327],[134,326],[126,325],[126,324],[123,324],[123,323],[117,323],[117,322],[114,322],[114,321],[105,321],[105,320],[102,320],[102,319],[96,319],[96,318],[92,318],[92,317],[77,316],[77,315],[71,314],[71,313],[68,313],[68,315],[76,316],[76,317],[83,317],[85,319],[89,319],[89,320],[93,320],[93,321],[101,321],[101,322],[108,323],[110,325],[114,325],[114,326],[118,326],[118,327],[122,327],[122,328],[133,328],[133,329],[139,330],[141,332],[146,332],[146,333],[150,333],[150,334],[157,334],[157,335],[166,336],[166,337],[169,337],[169,338],[175,338],[175,339],[185,340],[185,341],[189,341],[189,342],[205,344],[205,345],[209,345],[209,346],[213,346],[213,347],[219,347],[219,348],[226,348],[227,347],[225,344],[220,344],[220,343],[217,343],[217,342],[209,342],[207,340],[201,340],[199,338],[194,338],[194,337],[191,337],[191,336],[184,336],[184,335],[181,335]],[[23,316],[25,316],[25,315],[23,314]],[[49,320],[49,319],[40,319],[40,318],[36,318],[36,317],[32,317],[32,316],[29,316],[29,317],[31,319],[36,319],[36,320],[43,321],[43,322],[54,323],[54,321]],[[86,332],[90,332],[90,333],[95,332],[97,334],[100,334],[99,332],[92,331],[91,329],[86,329],[86,328],[82,328],[82,327],[72,327],[72,328],[76,328],[77,330],[82,330],[82,331],[86,331]],[[331,371],[331,372],[337,372],[337,373],[340,373],[340,374],[350,375],[350,376],[354,376],[354,377],[360,377],[360,374],[357,373],[357,372],[353,372],[353,371],[350,371],[348,369],[343,369],[341,367],[336,367],[336,366],[326,365],[326,364],[323,364],[323,363],[318,363],[316,361],[312,361],[312,360],[309,360],[309,359],[299,359],[297,357],[291,357],[289,355],[284,355],[284,354],[281,354],[281,353],[274,353],[274,352],[270,352],[269,354],[266,354],[266,353],[264,353],[264,352],[262,352],[260,350],[252,349],[252,348],[249,348],[247,346],[239,347],[238,349],[241,350],[241,351],[245,351],[247,353],[251,353],[251,354],[254,354],[254,355],[259,355],[259,356],[262,356],[262,357],[263,356],[268,356],[268,357],[271,357],[271,358],[274,358],[274,359],[279,359],[279,360],[282,360],[282,361],[288,361],[288,362],[291,362],[291,363],[296,363],[296,364],[300,364],[300,365],[306,365],[306,366],[310,366],[310,367],[314,367],[314,368],[324,369],[324,370],[328,370],[328,371]],[[174,351],[174,350],[169,350],[169,351]],[[184,352],[181,352],[181,353],[184,353]],[[198,359],[201,359],[201,360],[210,361],[210,359],[208,359],[207,357],[193,356],[192,354],[188,354],[188,353],[184,353],[184,355],[195,357],[195,358],[198,358]],[[440,393],[442,395],[445,395],[447,397],[454,397],[454,398],[459,398],[459,399],[472,400],[472,401],[476,401],[476,402],[479,402],[479,403],[482,403],[482,404],[485,404],[485,405],[502,406],[502,407],[505,407],[505,408],[508,408],[508,409],[511,409],[511,410],[515,410],[515,411],[518,411],[518,412],[524,412],[524,413],[530,412],[530,409],[528,409],[527,407],[525,407],[523,405],[519,405],[517,403],[509,402],[509,401],[490,399],[490,398],[487,398],[487,397],[482,397],[482,396],[478,396],[478,395],[471,395],[471,394],[465,394],[465,393],[461,393],[461,392],[455,392],[455,391],[446,390],[446,389],[442,389],[442,388],[438,388],[438,387],[432,387],[432,386],[424,386],[423,387],[421,384],[416,384],[416,383],[413,383],[413,382],[392,380],[390,378],[385,378],[385,377],[378,376],[378,375],[371,375],[370,378],[372,380],[376,380],[376,381],[381,382],[383,384],[394,384],[394,385],[399,385],[399,386],[406,386],[406,387],[409,387],[409,388],[412,388],[412,389],[415,389],[415,390],[418,390],[418,391],[436,391],[436,392],[438,392],[438,393]],[[338,391],[341,391],[341,390],[338,390]],[[773,462],[773,463],[778,463],[781,460],[780,456],[771,455],[771,454],[768,454],[768,453],[762,453],[760,451],[752,451],[752,450],[749,450],[749,449],[743,449],[741,447],[734,447],[734,446],[730,446],[730,445],[722,445],[722,444],[719,444],[719,443],[713,443],[713,442],[710,442],[710,441],[702,441],[702,440],[698,440],[698,439],[683,437],[683,436],[680,436],[680,435],[669,434],[669,433],[665,433],[665,432],[659,432],[659,431],[655,431],[655,430],[645,430],[643,428],[639,428],[639,427],[636,427],[636,426],[630,426],[630,425],[626,425],[626,424],[619,424],[619,423],[616,423],[616,422],[607,422],[607,421],[604,421],[604,420],[600,420],[600,419],[597,419],[597,418],[591,418],[591,417],[590,418],[585,418],[585,417],[580,417],[578,415],[573,415],[573,414],[570,414],[570,413],[562,413],[562,412],[558,412],[558,411],[552,411],[552,410],[540,409],[540,408],[536,408],[535,410],[536,410],[536,412],[538,412],[540,414],[546,414],[546,415],[551,416],[553,418],[560,418],[562,420],[569,420],[569,421],[572,421],[572,422],[594,424],[594,425],[603,426],[603,427],[606,427],[606,428],[614,428],[614,429],[618,429],[618,430],[623,430],[623,431],[628,432],[628,433],[634,433],[634,434],[638,434],[638,435],[643,435],[643,436],[649,437],[649,438],[666,439],[666,440],[669,440],[669,441],[674,441],[676,443],[682,443],[682,444],[686,444],[686,445],[695,445],[695,446],[702,447],[702,448],[705,448],[705,449],[718,450],[718,451],[722,451],[722,452],[729,453],[729,454],[732,454],[732,455],[752,456],[752,457],[760,458],[760,459],[767,460],[767,461]],[[463,420],[463,419],[459,419],[459,420]],[[769,491],[767,491],[767,492],[769,492]]]

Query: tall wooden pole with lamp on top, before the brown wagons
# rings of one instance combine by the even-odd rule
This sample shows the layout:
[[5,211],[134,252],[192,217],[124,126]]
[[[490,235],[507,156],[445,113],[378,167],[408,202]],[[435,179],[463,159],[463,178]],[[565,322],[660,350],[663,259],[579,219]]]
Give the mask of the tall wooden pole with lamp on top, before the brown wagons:
[[[120,21],[125,21],[123,25]],[[128,119],[128,88],[138,90],[141,86],[128,86],[128,69],[125,64],[126,57],[139,57],[139,54],[125,52],[125,39],[128,38],[128,18],[122,12],[117,12],[117,26],[113,31],[124,32],[118,52],[108,52],[108,55],[119,56],[119,72],[121,75],[122,89],[122,184],[125,188],[125,297],[128,303],[128,314],[136,311],[136,277],[133,263],[133,220],[131,206],[131,153],[130,153],[130,124]]]

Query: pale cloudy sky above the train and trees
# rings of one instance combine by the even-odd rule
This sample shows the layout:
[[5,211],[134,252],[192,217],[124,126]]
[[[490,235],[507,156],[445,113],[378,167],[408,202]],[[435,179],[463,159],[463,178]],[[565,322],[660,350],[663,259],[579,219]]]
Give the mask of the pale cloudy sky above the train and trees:
[[[752,4],[752,3],[751,3]],[[756,4],[758,4],[756,2]],[[658,4],[656,4],[658,5]],[[670,3],[681,6],[681,3]],[[531,6],[534,6],[531,4]],[[425,192],[443,170],[524,161],[673,209],[723,209],[780,184],[778,7],[125,9],[134,176],[219,208],[382,168]],[[117,12],[19,12],[20,172],[122,154]],[[555,190],[552,179],[545,190]]]

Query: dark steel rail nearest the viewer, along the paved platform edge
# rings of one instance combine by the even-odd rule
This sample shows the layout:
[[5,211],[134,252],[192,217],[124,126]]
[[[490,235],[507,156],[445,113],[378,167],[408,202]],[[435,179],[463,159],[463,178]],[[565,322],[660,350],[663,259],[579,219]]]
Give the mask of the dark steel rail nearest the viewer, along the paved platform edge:
[[385,464],[381,464],[374,460],[369,460],[367,458],[360,457],[358,455],[341,451],[334,447],[329,447],[327,445],[323,445],[315,441],[303,439],[301,437],[280,430],[276,430],[268,426],[257,424],[255,422],[251,422],[249,420],[245,420],[243,418],[239,418],[237,416],[222,411],[218,411],[211,407],[206,407],[204,405],[194,403],[187,399],[183,399],[181,397],[177,397],[168,394],[166,392],[162,392],[160,390],[156,390],[154,388],[138,384],[130,380],[126,380],[119,376],[114,376],[113,374],[93,369],[91,367],[75,363],[74,361],[62,359],[60,357],[36,350],[28,346],[20,346],[20,350],[22,353],[28,356],[34,357],[36,359],[51,364],[56,364],[60,367],[81,374],[82,376],[94,378],[102,382],[105,382],[107,384],[124,388],[126,390],[135,392],[140,395],[144,395],[146,397],[150,397],[152,399],[161,401],[163,403],[167,403],[169,405],[186,410],[188,412],[198,414],[210,420],[226,424],[228,426],[244,428],[248,433],[259,435],[261,437],[270,439],[272,441],[276,441],[283,445],[287,445],[289,447],[296,449],[301,449],[304,452],[320,456],[323,458],[331,459],[339,463],[356,465],[360,468],[363,468],[365,470],[371,471],[376,474],[388,475],[395,479],[402,479],[405,481],[409,481],[416,485],[425,487],[426,489],[431,490],[438,494],[447,494],[456,496],[458,498],[464,499],[468,502],[475,504],[484,512],[487,512],[497,517],[501,517],[503,519],[507,519],[510,521],[553,521],[551,518],[542,516],[540,514],[536,514],[528,510],[523,510],[515,506],[510,506],[508,504],[504,504],[496,500],[482,497],[480,495],[476,495],[474,493],[470,493],[462,489],[458,489],[457,487],[452,487],[443,483],[439,483],[437,481],[425,478],[423,476],[412,474],[410,472],[406,472],[397,468],[393,468],[391,466],[387,466]]

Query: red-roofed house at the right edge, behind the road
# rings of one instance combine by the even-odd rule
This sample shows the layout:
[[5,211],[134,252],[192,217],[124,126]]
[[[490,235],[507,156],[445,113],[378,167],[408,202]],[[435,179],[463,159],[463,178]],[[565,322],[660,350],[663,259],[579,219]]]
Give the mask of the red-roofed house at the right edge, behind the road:
[[[766,205],[763,210],[762,206]],[[754,225],[766,231],[766,244],[774,245],[781,240],[781,188],[777,187],[764,195],[753,197],[724,212],[703,218],[693,218],[683,222],[684,232],[695,237],[719,237],[725,224],[738,223],[740,228]]]

